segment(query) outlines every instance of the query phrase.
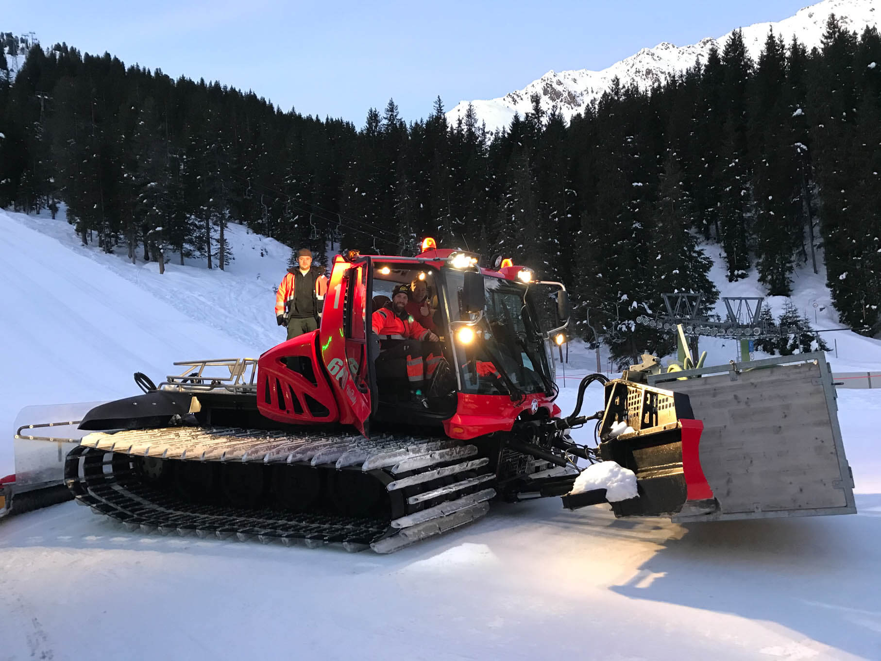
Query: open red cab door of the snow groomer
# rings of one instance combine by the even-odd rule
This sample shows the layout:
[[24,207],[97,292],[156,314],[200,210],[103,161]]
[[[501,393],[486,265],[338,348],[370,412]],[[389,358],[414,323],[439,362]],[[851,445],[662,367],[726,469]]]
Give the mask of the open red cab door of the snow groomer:
[[374,401],[368,351],[373,265],[370,257],[359,257],[351,264],[337,260],[322,315],[322,362],[337,393],[340,421],[366,435]]

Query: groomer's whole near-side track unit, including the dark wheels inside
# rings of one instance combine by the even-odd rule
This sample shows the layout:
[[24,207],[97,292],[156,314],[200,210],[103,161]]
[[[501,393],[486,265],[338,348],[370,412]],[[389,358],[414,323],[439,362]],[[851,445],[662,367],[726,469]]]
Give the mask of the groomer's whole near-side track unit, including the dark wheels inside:
[[65,483],[129,530],[390,553],[485,516],[488,464],[453,439],[163,427],[89,434]]

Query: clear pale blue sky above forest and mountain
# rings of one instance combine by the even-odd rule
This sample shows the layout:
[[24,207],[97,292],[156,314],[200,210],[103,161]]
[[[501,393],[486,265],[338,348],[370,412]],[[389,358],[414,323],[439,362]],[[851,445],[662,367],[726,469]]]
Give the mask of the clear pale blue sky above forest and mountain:
[[406,120],[438,95],[492,99],[549,70],[600,70],[661,41],[685,45],[785,19],[806,0],[7,2],[0,31],[108,51],[176,78],[253,90],[283,110],[343,117],[394,98]]

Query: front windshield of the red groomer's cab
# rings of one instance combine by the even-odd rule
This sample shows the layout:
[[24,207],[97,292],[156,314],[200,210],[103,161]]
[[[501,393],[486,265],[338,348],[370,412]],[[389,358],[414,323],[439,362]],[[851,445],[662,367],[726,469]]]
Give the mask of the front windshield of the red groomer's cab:
[[[470,321],[463,313],[463,271],[444,269],[449,321]],[[463,345],[452,339],[463,392],[484,395],[551,393],[553,376],[541,323],[527,297],[527,287],[484,277],[486,308],[476,338]]]

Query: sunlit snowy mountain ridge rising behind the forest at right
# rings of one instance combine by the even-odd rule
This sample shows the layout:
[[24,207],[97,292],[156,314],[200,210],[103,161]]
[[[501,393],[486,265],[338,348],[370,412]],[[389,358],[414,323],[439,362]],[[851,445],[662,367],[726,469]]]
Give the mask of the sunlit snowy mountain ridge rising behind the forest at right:
[[[820,45],[826,19],[832,13],[838,17],[842,27],[862,32],[865,27],[877,26],[881,0],[823,0],[804,7],[788,19],[743,27],[744,44],[753,60],[756,60],[768,31],[773,30],[787,43],[796,37],[810,50]],[[640,89],[649,89],[652,85],[663,83],[668,76],[694,66],[696,62],[707,63],[710,49],[715,47],[721,52],[732,32],[718,39],[707,37],[688,46],[675,46],[665,41],[655,48],[642,48],[635,55],[603,71],[548,71],[522,90],[507,93],[498,99],[460,101],[447,113],[447,120],[455,124],[460,117],[464,119],[470,103],[477,113],[478,123],[485,122],[487,130],[495,134],[511,123],[515,113],[526,115],[532,108],[530,97],[537,93],[545,112],[550,112],[556,106],[568,122],[591,101],[598,100],[611,87],[614,78],[619,78],[625,87],[634,83]]]

